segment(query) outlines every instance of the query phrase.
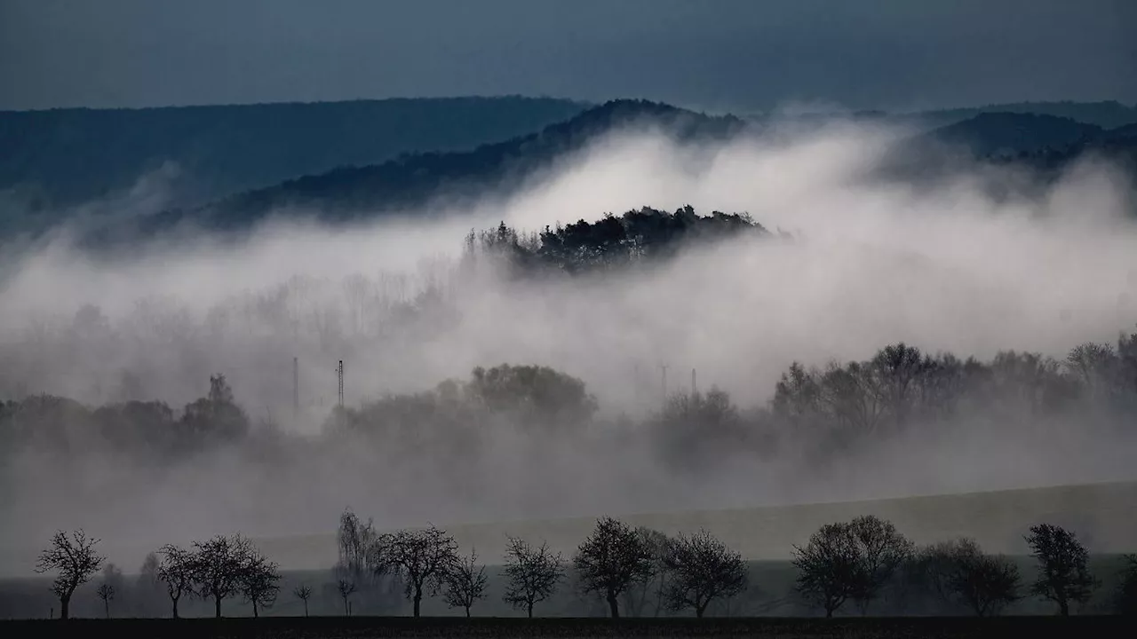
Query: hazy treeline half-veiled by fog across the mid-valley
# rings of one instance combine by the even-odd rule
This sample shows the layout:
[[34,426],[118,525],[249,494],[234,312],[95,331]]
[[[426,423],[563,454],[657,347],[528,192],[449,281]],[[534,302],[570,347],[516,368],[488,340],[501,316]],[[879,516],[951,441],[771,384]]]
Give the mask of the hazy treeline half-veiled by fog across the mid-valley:
[[[739,447],[760,456],[800,446],[840,455],[937,424],[1014,432],[1077,422],[1087,430],[1124,431],[1137,423],[1137,333],[1115,345],[1079,345],[1063,360],[1003,351],[982,362],[895,343],[863,362],[795,363],[764,406],[739,407],[712,387],[671,393],[642,424],[597,417],[597,408],[579,379],[546,366],[501,364],[434,389],[333,408],[323,432],[374,435],[388,450],[441,456],[440,450],[492,445],[483,441],[492,431],[481,428],[489,423],[561,433],[603,425],[644,435],[675,464],[702,466]],[[263,437],[271,426],[265,420],[250,424],[224,375],[211,376],[208,392],[181,410],[161,401],[92,408],[55,396],[0,403],[7,455],[27,447],[84,455],[98,443],[96,449],[144,459],[190,458],[204,448]]]

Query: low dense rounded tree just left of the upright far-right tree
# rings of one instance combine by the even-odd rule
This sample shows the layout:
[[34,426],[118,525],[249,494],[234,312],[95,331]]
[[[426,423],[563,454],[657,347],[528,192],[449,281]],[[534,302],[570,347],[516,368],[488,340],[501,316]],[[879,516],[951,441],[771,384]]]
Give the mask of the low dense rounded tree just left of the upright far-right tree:
[[1019,599],[1019,569],[1003,556],[984,554],[973,539],[936,543],[919,563],[937,594],[987,616]]

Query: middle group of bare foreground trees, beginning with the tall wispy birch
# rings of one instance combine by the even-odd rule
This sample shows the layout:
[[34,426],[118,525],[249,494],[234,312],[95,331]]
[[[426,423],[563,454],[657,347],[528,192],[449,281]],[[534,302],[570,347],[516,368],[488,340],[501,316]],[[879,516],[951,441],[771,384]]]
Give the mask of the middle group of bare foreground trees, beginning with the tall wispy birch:
[[[365,524],[346,511],[339,542],[342,574],[396,578],[412,601],[414,616],[421,614],[424,596],[442,595],[449,607],[463,608],[466,616],[487,597],[489,579],[476,550],[459,555],[454,538],[433,525],[376,534],[371,521]],[[705,530],[670,538],[603,517],[571,561],[547,542],[508,538],[501,565],[503,600],[533,616],[534,606],[566,581],[570,565],[579,591],[601,598],[613,617],[621,615],[622,603],[634,601],[636,589],[641,604],[652,583],[658,584],[659,606],[691,609],[696,616],[703,616],[711,601],[741,592],[747,583],[742,556]],[[354,581],[340,579],[339,583],[341,594],[355,591]]]

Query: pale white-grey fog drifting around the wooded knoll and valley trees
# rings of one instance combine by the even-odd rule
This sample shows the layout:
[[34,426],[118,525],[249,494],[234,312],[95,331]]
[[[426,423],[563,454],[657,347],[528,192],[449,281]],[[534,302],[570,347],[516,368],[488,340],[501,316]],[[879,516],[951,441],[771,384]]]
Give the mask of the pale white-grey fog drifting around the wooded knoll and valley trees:
[[[620,132],[473,205],[442,199],[350,227],[293,215],[239,243],[183,234],[114,256],[74,249],[66,232],[7,247],[0,398],[158,399],[177,413],[223,373],[250,418],[279,431],[171,466],[14,451],[0,543],[34,548],[74,526],[151,547],[331,532],[348,505],[388,526],[1137,479],[1131,432],[1072,423],[918,430],[820,466],[723,453],[698,473],[615,434],[621,417],[661,407],[661,365],[669,391],[686,390],[695,368],[700,390],[716,385],[746,409],[764,406],[795,360],[863,360],[898,341],[1062,359],[1134,329],[1137,224],[1120,173],[1088,160],[1048,184],[978,166],[932,184],[877,176],[904,133],[835,122],[694,148]],[[993,194],[991,183],[1016,190]],[[471,272],[459,259],[471,229],[687,204],[748,211],[775,233],[575,277]],[[321,439],[340,359],[348,406],[511,363],[580,377],[599,413],[579,431],[500,425],[464,453],[393,456]]]

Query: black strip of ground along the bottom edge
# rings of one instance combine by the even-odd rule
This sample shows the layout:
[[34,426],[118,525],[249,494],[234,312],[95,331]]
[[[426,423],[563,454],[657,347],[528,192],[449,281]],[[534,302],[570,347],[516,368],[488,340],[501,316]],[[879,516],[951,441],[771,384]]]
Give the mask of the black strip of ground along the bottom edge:
[[978,638],[1131,637],[1132,621],[1073,617],[914,619],[406,619],[273,617],[233,620],[73,620],[0,622],[3,637],[274,637],[366,639],[380,637],[753,637],[753,638]]

